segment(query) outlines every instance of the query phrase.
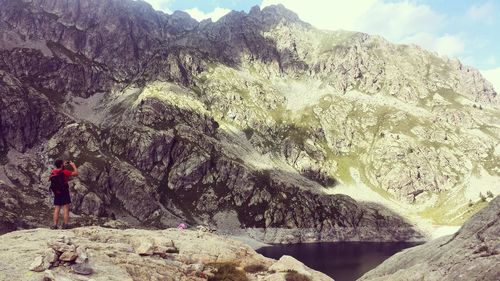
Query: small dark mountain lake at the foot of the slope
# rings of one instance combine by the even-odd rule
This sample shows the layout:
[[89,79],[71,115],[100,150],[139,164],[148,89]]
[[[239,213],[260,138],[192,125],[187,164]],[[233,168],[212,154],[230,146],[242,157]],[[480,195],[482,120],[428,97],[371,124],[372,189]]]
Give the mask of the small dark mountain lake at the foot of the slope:
[[331,242],[273,245],[257,250],[279,259],[289,255],[305,265],[335,279],[353,281],[375,268],[395,253],[420,243],[408,242]]

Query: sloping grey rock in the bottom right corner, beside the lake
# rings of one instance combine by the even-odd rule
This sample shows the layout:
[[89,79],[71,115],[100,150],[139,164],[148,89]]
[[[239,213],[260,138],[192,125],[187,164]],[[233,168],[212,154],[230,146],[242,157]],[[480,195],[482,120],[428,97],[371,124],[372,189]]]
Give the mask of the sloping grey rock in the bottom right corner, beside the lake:
[[454,235],[404,250],[359,280],[498,280],[500,197]]

